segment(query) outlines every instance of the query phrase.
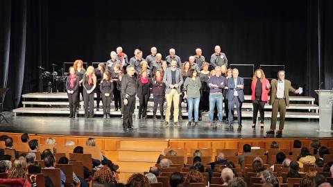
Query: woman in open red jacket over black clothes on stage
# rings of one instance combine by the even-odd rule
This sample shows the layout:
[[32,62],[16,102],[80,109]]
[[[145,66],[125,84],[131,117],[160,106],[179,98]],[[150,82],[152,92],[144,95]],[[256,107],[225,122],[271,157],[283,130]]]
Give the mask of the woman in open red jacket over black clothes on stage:
[[253,103],[253,125],[257,123],[258,109],[260,112],[260,127],[264,128],[264,107],[268,100],[268,93],[271,89],[271,84],[265,78],[265,73],[262,69],[257,69],[253,74],[253,80],[251,84],[252,90],[252,103]]

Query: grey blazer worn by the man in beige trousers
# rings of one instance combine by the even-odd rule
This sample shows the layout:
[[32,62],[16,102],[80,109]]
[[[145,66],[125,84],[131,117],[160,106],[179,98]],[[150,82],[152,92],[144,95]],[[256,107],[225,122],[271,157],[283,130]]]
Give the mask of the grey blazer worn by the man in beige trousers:
[[[170,94],[170,92],[171,92],[170,84],[172,84],[171,67],[167,68],[164,71],[163,82],[166,87],[165,94]],[[182,86],[183,82],[184,82],[184,80],[182,80],[182,73],[179,68],[176,68],[176,84],[178,84],[178,87],[177,87],[178,94],[181,93],[180,87]]]

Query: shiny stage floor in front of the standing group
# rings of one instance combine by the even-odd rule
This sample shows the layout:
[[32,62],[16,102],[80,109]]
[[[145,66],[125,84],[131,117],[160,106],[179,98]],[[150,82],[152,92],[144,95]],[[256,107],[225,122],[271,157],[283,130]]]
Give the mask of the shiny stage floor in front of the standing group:
[[[235,139],[235,138],[265,138],[266,130],[270,121],[267,119],[264,130],[257,127],[251,128],[252,121],[244,119],[243,127],[239,129],[237,123],[229,127],[223,125],[207,126],[207,116],[198,126],[187,127],[187,120],[180,122],[181,127],[164,127],[164,121],[148,118],[146,120],[134,119],[134,126],[137,130],[123,132],[122,119],[112,117],[110,119],[67,118],[66,116],[36,116],[24,115],[13,116],[7,113],[9,123],[0,123],[0,132],[31,133],[31,134],[55,134],[69,136],[104,136],[104,137],[126,137],[126,138],[154,138],[154,139]],[[331,138],[331,132],[316,132],[318,121],[289,120],[284,125],[282,138]],[[273,136],[268,136],[273,138]]]

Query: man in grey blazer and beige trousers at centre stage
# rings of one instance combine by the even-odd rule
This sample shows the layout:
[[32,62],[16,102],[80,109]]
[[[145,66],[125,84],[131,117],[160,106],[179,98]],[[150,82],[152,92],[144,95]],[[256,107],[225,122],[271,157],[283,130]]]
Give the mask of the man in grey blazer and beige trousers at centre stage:
[[173,102],[173,122],[178,125],[180,87],[183,83],[180,69],[177,68],[177,61],[171,60],[171,67],[165,70],[163,82],[166,86],[165,94],[167,96],[167,112],[165,114],[165,125],[169,125],[171,103]]

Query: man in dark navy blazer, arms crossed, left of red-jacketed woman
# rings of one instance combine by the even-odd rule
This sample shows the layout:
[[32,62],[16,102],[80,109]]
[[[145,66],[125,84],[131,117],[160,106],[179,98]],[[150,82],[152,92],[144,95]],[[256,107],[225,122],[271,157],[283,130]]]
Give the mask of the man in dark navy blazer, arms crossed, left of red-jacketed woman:
[[238,69],[232,69],[232,78],[228,78],[228,123],[234,122],[234,105],[237,109],[238,125],[241,127],[241,105],[244,102],[244,79],[238,76]]

